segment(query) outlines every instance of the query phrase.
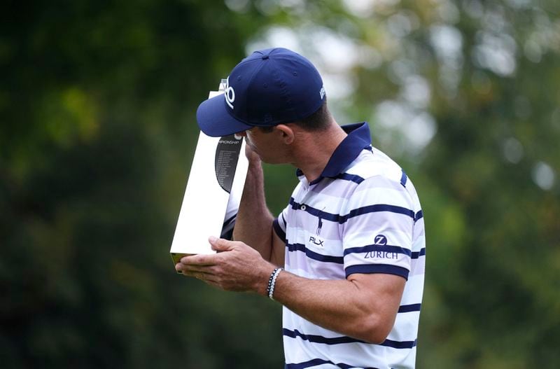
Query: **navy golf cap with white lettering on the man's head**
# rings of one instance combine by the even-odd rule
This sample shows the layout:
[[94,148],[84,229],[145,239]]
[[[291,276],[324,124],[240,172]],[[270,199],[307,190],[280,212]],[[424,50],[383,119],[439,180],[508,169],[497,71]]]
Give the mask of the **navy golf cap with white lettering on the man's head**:
[[200,130],[211,137],[307,118],[325,99],[317,69],[285,48],[255,51],[231,71],[223,95],[202,102]]

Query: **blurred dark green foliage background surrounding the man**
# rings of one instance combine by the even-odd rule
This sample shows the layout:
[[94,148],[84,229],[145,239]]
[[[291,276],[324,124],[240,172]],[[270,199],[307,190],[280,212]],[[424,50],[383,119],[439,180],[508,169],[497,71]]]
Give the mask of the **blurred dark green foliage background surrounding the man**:
[[[197,105],[293,48],[423,203],[417,368],[560,365],[557,0],[3,1],[0,367],[281,368],[281,307],[174,272]],[[266,166],[276,214],[296,183]]]

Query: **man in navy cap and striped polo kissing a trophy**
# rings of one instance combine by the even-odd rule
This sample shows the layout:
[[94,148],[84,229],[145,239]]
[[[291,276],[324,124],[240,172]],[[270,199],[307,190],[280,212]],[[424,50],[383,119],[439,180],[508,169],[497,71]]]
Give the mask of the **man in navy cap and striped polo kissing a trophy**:
[[[367,123],[337,125],[318,71],[283,48],[237,64],[197,121],[210,136],[244,136],[249,170],[235,241],[210,237],[221,252],[186,256],[176,269],[280,302],[286,368],[414,368],[422,212],[406,174],[372,148]],[[297,167],[278,218],[261,160]]]

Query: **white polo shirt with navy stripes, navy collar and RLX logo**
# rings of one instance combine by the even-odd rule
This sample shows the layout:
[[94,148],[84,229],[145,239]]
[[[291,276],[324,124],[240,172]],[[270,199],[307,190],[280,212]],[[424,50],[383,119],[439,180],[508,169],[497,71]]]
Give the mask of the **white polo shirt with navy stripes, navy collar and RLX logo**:
[[321,176],[297,171],[290,203],[274,220],[286,242],[285,268],[310,279],[353,273],[406,279],[391,332],[370,344],[316,326],[283,307],[286,368],[414,368],[426,242],[416,190],[405,172],[372,148],[367,123],[342,127],[348,136]]

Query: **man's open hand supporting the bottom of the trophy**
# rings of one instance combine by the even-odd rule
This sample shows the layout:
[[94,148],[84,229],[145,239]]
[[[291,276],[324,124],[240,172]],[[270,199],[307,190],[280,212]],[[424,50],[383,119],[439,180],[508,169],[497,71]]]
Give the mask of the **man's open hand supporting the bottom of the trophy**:
[[209,242],[218,253],[185,256],[175,265],[175,269],[225,291],[266,294],[268,278],[274,265],[262,259],[258,251],[243,242],[216,237],[210,237]]

